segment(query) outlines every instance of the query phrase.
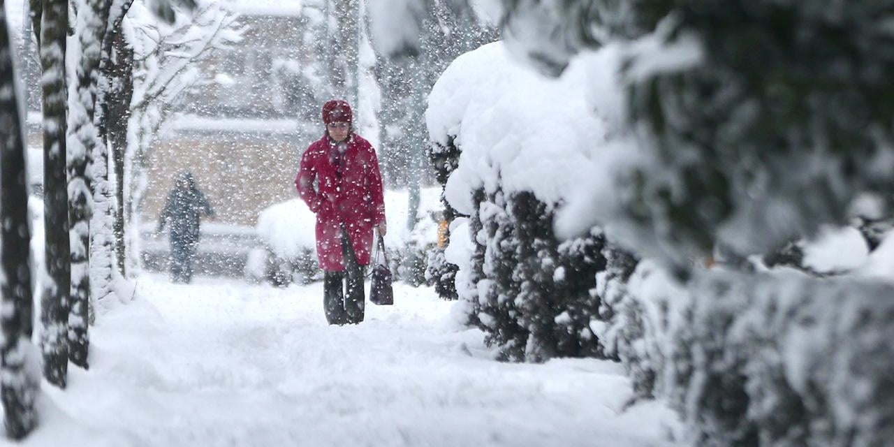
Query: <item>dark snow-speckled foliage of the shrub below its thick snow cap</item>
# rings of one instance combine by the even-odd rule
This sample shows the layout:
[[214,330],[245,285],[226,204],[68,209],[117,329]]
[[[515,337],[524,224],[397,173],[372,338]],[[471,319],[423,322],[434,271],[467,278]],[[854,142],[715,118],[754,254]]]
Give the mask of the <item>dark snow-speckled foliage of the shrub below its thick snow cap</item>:
[[460,299],[485,342],[507,361],[600,355],[590,325],[598,317],[594,287],[605,266],[603,235],[557,240],[554,210],[529,192],[506,198],[501,191],[479,190],[476,197],[479,212],[472,215],[470,234],[476,249],[468,274],[476,283],[459,289],[472,291]]

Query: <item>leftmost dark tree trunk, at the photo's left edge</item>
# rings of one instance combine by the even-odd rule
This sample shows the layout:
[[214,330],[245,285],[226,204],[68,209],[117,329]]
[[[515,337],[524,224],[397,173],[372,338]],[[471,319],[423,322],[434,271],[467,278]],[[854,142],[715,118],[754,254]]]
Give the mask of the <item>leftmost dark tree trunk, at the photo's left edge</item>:
[[25,143],[21,133],[18,89],[13,69],[4,0],[0,0],[0,375],[6,436],[22,439],[38,425],[34,407],[40,373],[27,358],[33,313],[31,296],[28,185],[25,181]]

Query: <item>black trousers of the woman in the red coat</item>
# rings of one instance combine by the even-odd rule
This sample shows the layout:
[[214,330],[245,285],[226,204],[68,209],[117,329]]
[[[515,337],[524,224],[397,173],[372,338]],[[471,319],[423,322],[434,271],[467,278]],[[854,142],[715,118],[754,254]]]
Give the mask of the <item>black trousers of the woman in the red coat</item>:
[[342,258],[342,272],[323,274],[323,308],[330,325],[357,325],[363,321],[367,301],[363,291],[365,268],[358,264],[343,225]]

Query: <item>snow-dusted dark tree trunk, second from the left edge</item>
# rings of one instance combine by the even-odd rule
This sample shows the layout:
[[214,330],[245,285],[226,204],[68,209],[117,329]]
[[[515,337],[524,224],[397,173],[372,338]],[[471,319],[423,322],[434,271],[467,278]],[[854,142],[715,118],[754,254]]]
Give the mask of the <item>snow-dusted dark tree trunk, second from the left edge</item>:
[[67,0],[44,0],[40,25],[44,105],[44,226],[46,284],[41,321],[46,380],[61,388],[68,375],[68,294],[71,288],[68,189],[65,175],[65,38]]

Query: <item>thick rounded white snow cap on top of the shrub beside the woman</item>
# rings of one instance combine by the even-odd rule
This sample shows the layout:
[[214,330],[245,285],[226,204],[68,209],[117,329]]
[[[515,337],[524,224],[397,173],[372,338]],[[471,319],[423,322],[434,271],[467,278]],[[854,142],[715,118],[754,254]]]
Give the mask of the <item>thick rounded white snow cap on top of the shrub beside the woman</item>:
[[[578,61],[583,62],[583,61]],[[428,97],[432,141],[460,148],[446,198],[471,214],[471,191],[528,190],[546,204],[569,197],[591,175],[593,147],[605,140],[602,118],[587,105],[586,64],[547,79],[510,58],[502,42],[458,57]]]

